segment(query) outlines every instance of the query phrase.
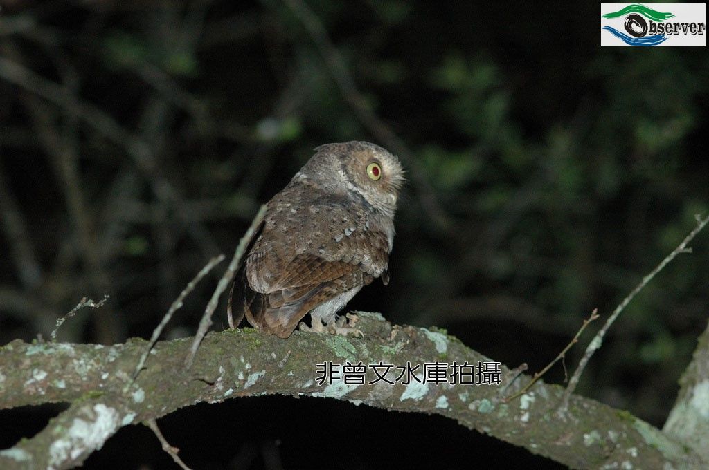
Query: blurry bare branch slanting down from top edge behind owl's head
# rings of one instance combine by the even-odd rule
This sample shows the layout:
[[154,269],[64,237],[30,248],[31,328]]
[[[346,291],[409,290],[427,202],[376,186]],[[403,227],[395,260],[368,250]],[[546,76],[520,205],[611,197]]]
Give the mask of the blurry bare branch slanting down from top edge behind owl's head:
[[362,125],[376,137],[385,147],[397,154],[404,160],[404,163],[411,171],[411,177],[416,189],[419,193],[421,207],[425,214],[432,222],[435,222],[437,227],[441,229],[449,229],[451,226],[450,217],[447,217],[446,211],[438,202],[437,196],[426,178],[423,169],[416,164],[412,152],[403,143],[403,140],[391,130],[386,122],[382,121],[379,116],[367,106],[362,93],[354,84],[352,75],[347,69],[345,60],[333,44],[333,41],[328,36],[328,32],[323,27],[323,23],[311,8],[301,0],[284,0],[284,3],[293,11],[295,16],[303,24],[303,27],[308,31],[308,35],[315,42],[320,55],[323,56],[325,64],[333,75],[337,87],[340,88],[340,93],[345,98],[345,101],[350,105],[350,108],[357,115]]

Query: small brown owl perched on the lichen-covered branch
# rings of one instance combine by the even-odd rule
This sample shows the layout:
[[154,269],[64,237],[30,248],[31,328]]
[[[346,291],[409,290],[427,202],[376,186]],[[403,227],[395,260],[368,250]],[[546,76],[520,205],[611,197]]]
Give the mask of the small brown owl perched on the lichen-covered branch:
[[401,164],[368,142],[315,151],[268,202],[238,275],[247,321],[281,338],[308,313],[301,328],[357,331],[337,311],[374,278],[389,283]]

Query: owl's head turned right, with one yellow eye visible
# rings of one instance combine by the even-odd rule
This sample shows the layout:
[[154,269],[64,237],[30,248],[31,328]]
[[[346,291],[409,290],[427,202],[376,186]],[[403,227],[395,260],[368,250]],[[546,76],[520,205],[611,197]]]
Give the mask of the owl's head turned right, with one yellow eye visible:
[[374,209],[393,217],[398,191],[406,180],[396,156],[369,142],[325,144],[318,155],[335,157],[337,173],[348,190],[364,197]]

